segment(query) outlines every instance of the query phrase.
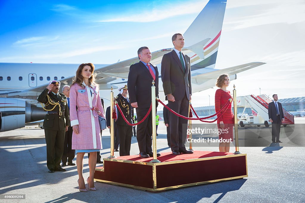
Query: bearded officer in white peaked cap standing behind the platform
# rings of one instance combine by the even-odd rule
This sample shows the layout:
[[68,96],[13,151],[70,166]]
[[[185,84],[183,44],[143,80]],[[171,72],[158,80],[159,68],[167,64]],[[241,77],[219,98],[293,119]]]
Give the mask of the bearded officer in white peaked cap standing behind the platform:
[[[124,117],[129,123],[132,123],[132,111],[133,108],[130,104],[128,96],[127,85],[123,85],[119,88],[120,93],[117,95],[117,103],[122,110]],[[131,136],[132,136],[132,127],[128,125],[122,115],[117,113],[117,129],[120,136],[120,156],[130,155],[130,145],[131,145]]]

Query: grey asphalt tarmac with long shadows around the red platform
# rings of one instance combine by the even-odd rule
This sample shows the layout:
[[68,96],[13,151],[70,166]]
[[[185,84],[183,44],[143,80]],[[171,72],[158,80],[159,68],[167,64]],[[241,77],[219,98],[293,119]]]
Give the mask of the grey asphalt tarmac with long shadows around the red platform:
[[[170,152],[166,128],[158,127],[158,152]],[[109,130],[103,131],[102,157],[110,155]],[[218,151],[218,147],[194,147]],[[230,152],[234,152],[231,147]],[[184,187],[159,193],[95,182],[97,191],[79,192],[76,166],[66,172],[48,173],[44,131],[22,128],[0,133],[0,194],[25,194],[25,199],[1,202],[305,202],[304,147],[240,147],[247,153],[249,177]],[[119,156],[119,152],[114,152]],[[138,154],[132,137],[131,154]],[[76,158],[75,158],[76,159]],[[76,163],[74,159],[74,163]],[[102,166],[102,164],[97,164]],[[230,166],[228,166],[230,167]],[[178,169],[179,170],[179,169]],[[137,173],[137,171],[134,171]],[[128,175],[128,174],[126,174]],[[185,171],[192,175],[192,169]],[[84,177],[89,176],[88,156],[84,158]],[[87,186],[87,184],[86,184]]]

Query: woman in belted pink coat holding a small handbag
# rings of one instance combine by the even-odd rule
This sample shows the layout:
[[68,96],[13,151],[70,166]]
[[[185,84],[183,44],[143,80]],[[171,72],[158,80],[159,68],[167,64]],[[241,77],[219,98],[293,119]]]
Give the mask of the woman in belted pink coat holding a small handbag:
[[93,181],[96,152],[102,149],[98,114],[105,118],[99,86],[95,83],[94,65],[83,63],[79,65],[70,87],[72,149],[75,149],[77,153],[76,165],[79,177],[77,182],[81,192],[87,191],[83,177],[83,159],[86,152],[90,152],[88,190],[96,190]]

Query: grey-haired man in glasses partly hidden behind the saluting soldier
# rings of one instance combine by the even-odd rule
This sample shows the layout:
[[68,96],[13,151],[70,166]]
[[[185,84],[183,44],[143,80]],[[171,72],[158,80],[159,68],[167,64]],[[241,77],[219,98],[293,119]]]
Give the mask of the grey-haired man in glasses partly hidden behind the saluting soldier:
[[[67,103],[70,110],[70,86],[63,86],[63,94],[67,97]],[[68,111],[68,110],[67,110]],[[75,157],[75,150],[72,149],[72,127],[68,127],[68,131],[65,134],[65,142],[63,144],[63,157],[61,158],[62,164],[61,166],[75,166],[73,163],[73,159]],[[67,164],[68,161],[68,164]]]

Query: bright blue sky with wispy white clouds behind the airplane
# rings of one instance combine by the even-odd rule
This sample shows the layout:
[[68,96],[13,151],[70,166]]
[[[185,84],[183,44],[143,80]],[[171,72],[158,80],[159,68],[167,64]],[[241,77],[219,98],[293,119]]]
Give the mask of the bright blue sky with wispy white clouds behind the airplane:
[[[0,62],[115,63],[141,46],[172,47],[172,34],[184,33],[206,3],[2,0]],[[267,63],[237,75],[239,95],[260,87],[279,98],[305,96],[304,10],[302,0],[228,0],[215,68]],[[198,94],[194,106],[208,105],[214,92]]]

